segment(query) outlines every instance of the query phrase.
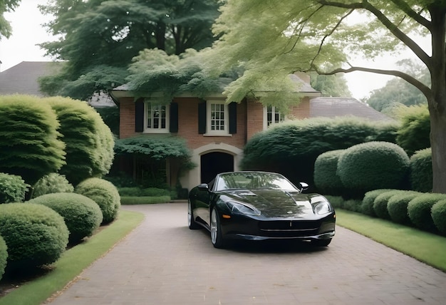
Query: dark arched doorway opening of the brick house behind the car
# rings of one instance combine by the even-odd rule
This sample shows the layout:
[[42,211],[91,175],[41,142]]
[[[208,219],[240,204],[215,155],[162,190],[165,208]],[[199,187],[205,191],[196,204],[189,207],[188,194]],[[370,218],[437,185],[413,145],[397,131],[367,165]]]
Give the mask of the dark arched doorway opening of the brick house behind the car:
[[207,153],[201,155],[201,182],[208,183],[220,172],[234,171],[234,156],[228,153]]

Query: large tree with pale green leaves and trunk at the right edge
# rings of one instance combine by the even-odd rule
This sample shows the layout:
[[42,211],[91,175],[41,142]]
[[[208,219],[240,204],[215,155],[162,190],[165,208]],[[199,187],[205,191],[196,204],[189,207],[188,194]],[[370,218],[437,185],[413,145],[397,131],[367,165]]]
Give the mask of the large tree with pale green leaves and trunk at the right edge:
[[[271,77],[286,82],[286,75],[294,71],[380,73],[418,88],[430,111],[433,192],[446,192],[444,0],[229,0],[214,31],[224,35],[215,45],[219,62],[213,68],[246,69],[227,88],[229,100],[239,100],[252,83]],[[431,52],[415,41],[415,35],[430,38]],[[400,50],[412,51],[427,67],[431,86],[403,71],[349,64],[353,56],[374,58]]]

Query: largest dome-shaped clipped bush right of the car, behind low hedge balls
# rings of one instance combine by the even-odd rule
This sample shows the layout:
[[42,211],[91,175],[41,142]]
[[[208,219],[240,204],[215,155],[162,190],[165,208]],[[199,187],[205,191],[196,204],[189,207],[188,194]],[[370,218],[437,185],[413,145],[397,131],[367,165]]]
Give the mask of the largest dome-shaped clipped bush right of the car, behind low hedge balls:
[[382,188],[407,187],[409,157],[398,145],[368,142],[344,151],[337,174],[343,186],[359,193]]

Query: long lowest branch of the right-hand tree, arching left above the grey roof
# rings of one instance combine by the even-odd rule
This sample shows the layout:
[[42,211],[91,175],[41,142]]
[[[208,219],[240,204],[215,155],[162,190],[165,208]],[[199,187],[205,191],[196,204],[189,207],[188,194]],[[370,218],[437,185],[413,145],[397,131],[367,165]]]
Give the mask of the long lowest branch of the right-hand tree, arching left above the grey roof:
[[426,98],[430,98],[432,95],[432,91],[428,86],[426,86],[424,83],[418,81],[418,79],[414,78],[413,76],[408,75],[407,73],[403,73],[398,70],[381,70],[381,69],[375,69],[375,68],[365,68],[365,67],[354,67],[351,66],[350,68],[337,68],[329,72],[323,72],[320,71],[316,66],[312,66],[314,71],[316,73],[321,75],[333,75],[336,73],[351,73],[355,71],[361,71],[361,72],[370,72],[370,73],[376,73],[376,74],[383,74],[388,76],[397,76],[399,78],[403,78],[403,80],[407,81],[408,83],[412,84],[416,88],[418,88],[423,95],[425,95]]

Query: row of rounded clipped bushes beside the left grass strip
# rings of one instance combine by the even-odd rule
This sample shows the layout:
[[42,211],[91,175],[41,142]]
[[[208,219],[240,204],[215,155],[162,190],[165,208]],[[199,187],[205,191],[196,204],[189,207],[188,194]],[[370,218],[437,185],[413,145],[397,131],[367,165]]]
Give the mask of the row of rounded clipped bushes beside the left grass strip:
[[[59,186],[66,189],[68,184],[62,178],[52,176],[46,181],[63,181]],[[58,189],[48,188],[44,182],[42,185],[41,190],[46,192]],[[100,178],[89,178],[75,190],[48,193],[25,203],[0,205],[0,236],[3,237],[0,240],[0,276],[5,260],[7,272],[56,262],[68,242],[79,242],[91,236],[104,223],[103,212],[108,213],[107,223],[115,219],[120,196],[113,184]]]

